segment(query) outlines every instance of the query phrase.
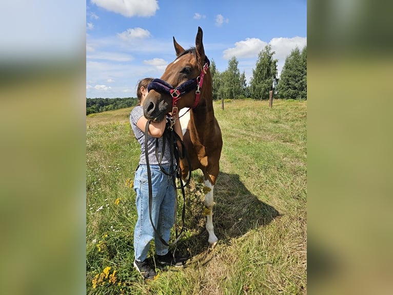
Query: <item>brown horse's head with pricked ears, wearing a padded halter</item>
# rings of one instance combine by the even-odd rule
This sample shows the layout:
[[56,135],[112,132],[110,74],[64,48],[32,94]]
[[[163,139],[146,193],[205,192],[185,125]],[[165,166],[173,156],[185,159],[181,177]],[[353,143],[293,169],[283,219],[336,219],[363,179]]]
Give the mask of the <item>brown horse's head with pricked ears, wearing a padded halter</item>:
[[204,79],[209,80],[211,87],[210,74],[205,76],[209,72],[209,60],[205,56],[202,35],[198,27],[195,47],[187,50],[173,37],[176,59],[167,66],[161,79],[154,79],[148,86],[149,93],[143,102],[147,119],[160,122],[170,112],[175,115],[178,109],[195,107],[203,91]]

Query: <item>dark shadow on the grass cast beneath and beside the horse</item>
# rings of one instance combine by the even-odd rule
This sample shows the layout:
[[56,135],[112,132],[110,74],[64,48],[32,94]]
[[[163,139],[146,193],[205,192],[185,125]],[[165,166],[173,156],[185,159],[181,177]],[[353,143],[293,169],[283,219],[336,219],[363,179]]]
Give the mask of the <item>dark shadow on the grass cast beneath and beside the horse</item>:
[[[176,248],[176,253],[181,255],[194,256],[208,250],[203,187],[203,183],[193,177],[186,190],[185,227],[188,231]],[[229,245],[232,238],[266,226],[278,216],[280,213],[274,207],[261,201],[244,186],[238,174],[220,172],[214,186],[213,207],[214,233],[219,244]],[[178,219],[178,225],[180,223]]]

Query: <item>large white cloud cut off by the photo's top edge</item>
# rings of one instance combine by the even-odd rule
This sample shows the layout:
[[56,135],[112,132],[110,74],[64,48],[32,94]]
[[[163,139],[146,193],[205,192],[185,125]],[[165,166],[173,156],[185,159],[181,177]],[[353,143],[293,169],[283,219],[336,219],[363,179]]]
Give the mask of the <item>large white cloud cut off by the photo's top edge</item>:
[[156,0],[91,0],[97,6],[124,16],[152,16],[159,9]]

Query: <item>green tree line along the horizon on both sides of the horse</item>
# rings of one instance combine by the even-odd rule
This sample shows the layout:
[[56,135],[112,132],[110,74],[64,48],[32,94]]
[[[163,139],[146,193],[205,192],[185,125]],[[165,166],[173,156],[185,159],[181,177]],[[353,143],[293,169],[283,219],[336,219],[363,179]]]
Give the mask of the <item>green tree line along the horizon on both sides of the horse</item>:
[[[211,60],[212,95],[214,100],[221,99],[269,99],[269,91],[274,97],[284,99],[307,99],[307,45],[300,50],[293,49],[286,57],[280,78],[277,77],[276,52],[267,45],[258,54],[256,67],[252,69],[249,85],[244,71],[240,73],[239,62],[233,57],[228,68],[220,72]],[[138,99],[128,98],[86,98],[86,115],[106,110],[131,107]]]

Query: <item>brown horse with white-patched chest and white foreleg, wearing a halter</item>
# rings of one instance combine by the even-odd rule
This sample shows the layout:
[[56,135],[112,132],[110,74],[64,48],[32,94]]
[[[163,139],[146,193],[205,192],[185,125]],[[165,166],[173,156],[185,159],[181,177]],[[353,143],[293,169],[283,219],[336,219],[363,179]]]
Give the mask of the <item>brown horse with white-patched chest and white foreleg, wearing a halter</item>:
[[[181,109],[189,109],[188,123],[181,118],[183,142],[189,155],[191,170],[200,169],[204,175],[206,229],[208,243],[214,248],[218,238],[213,227],[213,189],[220,171],[222,134],[214,117],[210,61],[203,46],[203,31],[198,27],[195,47],[185,50],[174,36],[176,59],[165,69],[161,79],[148,85],[148,95],[143,103],[144,116],[161,122],[166,114],[171,118]],[[181,159],[182,178],[187,181],[190,173],[188,161]]]

